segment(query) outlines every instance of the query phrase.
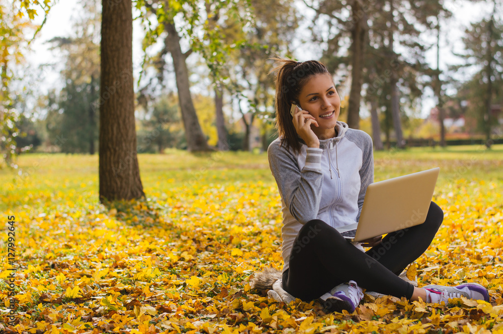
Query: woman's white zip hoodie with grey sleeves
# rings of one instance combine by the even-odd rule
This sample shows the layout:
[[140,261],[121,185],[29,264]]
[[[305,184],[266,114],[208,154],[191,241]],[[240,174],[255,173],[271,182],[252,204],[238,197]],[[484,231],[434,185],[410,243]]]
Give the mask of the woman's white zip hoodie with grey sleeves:
[[321,219],[334,228],[360,218],[367,186],[374,182],[372,139],[337,122],[337,137],[320,140],[320,148],[302,142],[299,154],[281,147],[278,138],[267,150],[283,212],[283,271],[289,267],[293,242],[302,225]]

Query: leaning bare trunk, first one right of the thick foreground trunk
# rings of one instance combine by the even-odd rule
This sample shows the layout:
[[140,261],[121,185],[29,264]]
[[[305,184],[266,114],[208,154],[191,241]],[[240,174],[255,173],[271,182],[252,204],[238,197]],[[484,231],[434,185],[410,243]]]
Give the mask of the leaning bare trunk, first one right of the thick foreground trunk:
[[174,22],[165,21],[164,27],[167,31],[166,45],[173,58],[175,67],[175,76],[177,78],[178,100],[182,111],[182,120],[184,123],[185,137],[187,139],[187,149],[194,151],[210,151],[206,136],[199,124],[196,109],[192,103],[190,93],[189,71],[185,63],[186,55],[180,48],[180,36]]

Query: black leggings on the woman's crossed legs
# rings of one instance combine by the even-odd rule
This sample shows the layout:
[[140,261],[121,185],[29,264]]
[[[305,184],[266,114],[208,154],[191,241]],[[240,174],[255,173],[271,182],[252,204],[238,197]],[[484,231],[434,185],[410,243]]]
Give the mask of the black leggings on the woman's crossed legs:
[[365,253],[324,221],[310,220],[293,243],[283,289],[310,301],[354,280],[368,291],[410,299],[414,287],[398,275],[427,250],[443,219],[444,212],[432,202],[423,224],[389,233]]

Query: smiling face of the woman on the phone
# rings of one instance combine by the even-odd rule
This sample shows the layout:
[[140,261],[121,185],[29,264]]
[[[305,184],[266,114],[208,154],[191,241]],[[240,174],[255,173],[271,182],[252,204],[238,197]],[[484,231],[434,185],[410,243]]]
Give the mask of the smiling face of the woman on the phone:
[[336,126],[341,111],[341,98],[328,73],[312,76],[299,93],[300,107],[307,110],[318,123],[313,131],[322,132]]

